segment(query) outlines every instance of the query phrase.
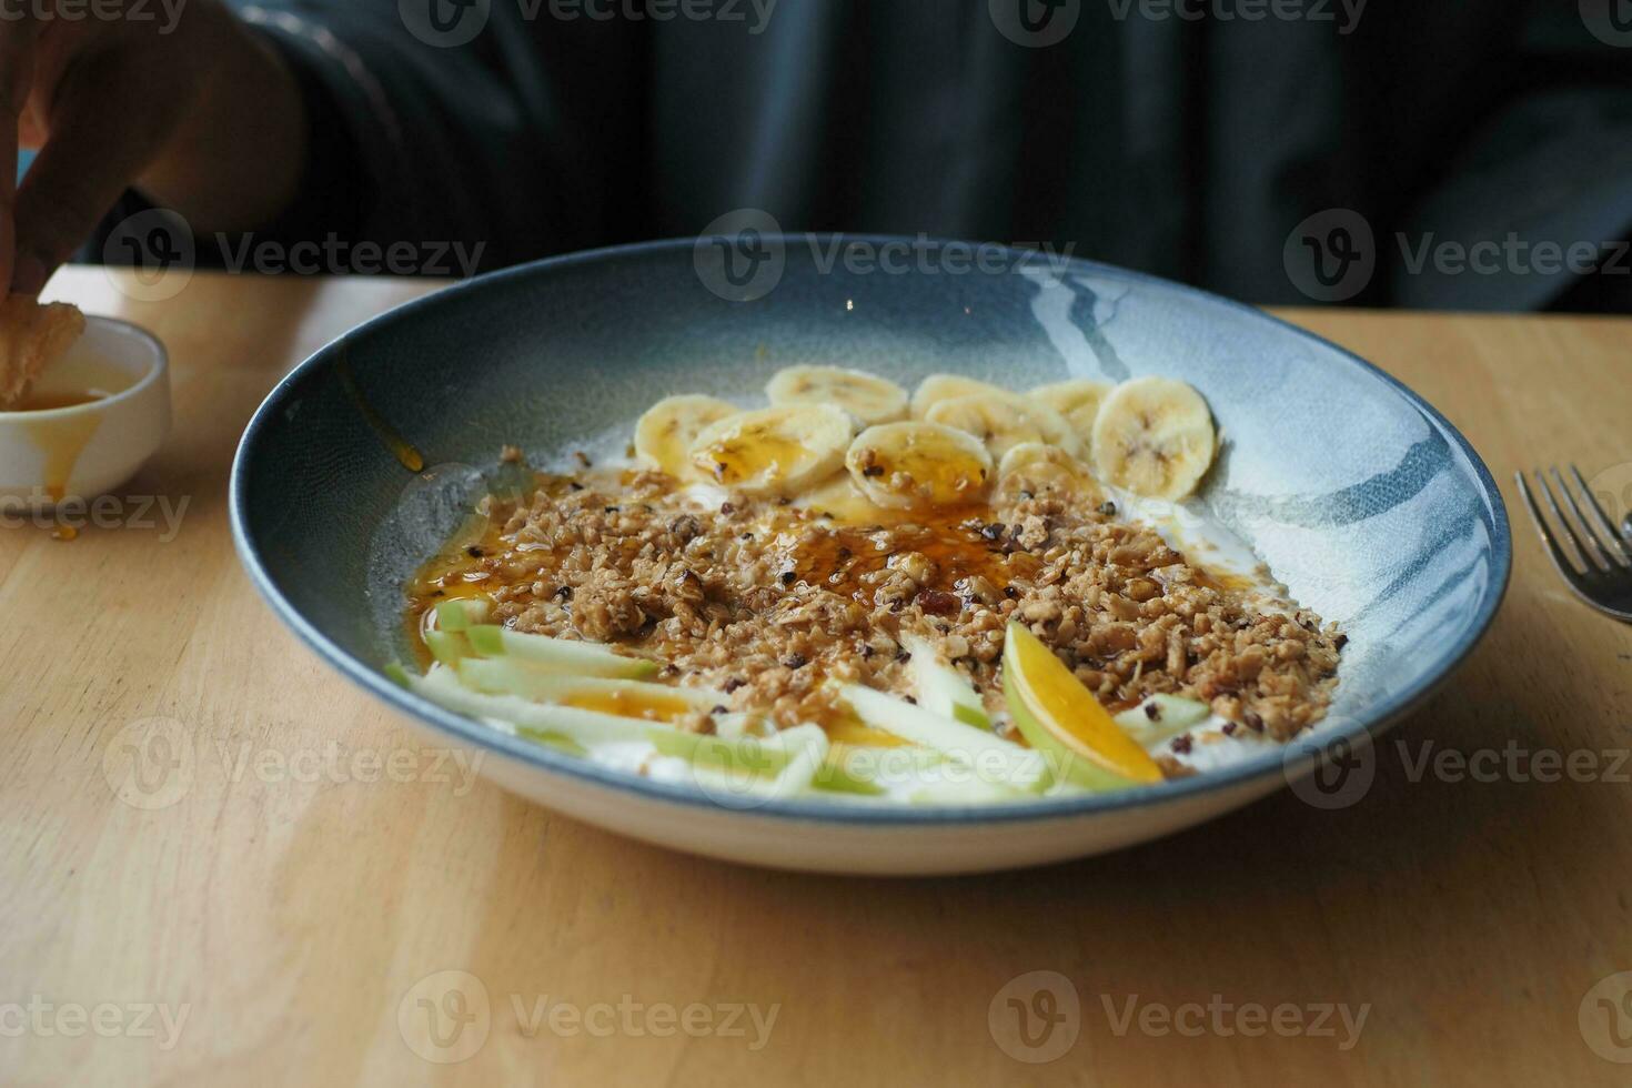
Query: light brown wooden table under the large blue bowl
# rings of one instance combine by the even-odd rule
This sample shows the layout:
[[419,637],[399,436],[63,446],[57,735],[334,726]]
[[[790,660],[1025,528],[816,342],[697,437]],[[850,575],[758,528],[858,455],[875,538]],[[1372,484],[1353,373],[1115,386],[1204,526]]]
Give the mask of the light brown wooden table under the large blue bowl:
[[[1624,980],[1593,990],[1632,971],[1632,626],[1565,592],[1510,483],[1575,460],[1632,486],[1632,321],[1291,313],[1444,409],[1514,512],[1495,630],[1359,804],[1281,793],[1075,865],[857,881],[666,853],[467,781],[256,599],[225,512],[245,421],[429,289],[199,274],[137,303],[69,269],[47,292],[168,343],[178,426],[124,494],[188,506],[176,533],[0,533],[0,1081],[1632,1080],[1599,1055],[1632,1059]],[[157,794],[114,773],[145,736],[175,741]],[[1448,749],[1500,759],[1420,770]],[[1537,781],[1547,752],[1596,780]],[[1020,995],[1033,1047],[1010,1023],[1005,1050],[989,1015],[1013,1021],[1004,987],[1031,971],[1064,980],[1053,1006]],[[1020,1060],[1069,1041],[1067,990],[1074,1046]]]

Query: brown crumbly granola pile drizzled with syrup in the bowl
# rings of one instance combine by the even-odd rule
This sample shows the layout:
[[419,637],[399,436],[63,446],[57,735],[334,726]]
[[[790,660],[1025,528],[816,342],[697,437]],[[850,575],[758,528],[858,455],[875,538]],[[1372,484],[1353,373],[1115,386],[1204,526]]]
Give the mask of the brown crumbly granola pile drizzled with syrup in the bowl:
[[428,568],[413,618],[446,595],[491,595],[498,623],[623,644],[783,728],[836,728],[829,679],[909,695],[901,638],[917,635],[1017,737],[997,674],[1018,618],[1110,708],[1183,695],[1227,732],[1286,741],[1325,713],[1343,644],[1314,613],[1209,577],[1113,502],[999,491],[854,520],[736,493],[703,504],[641,470],[540,478],[486,514],[485,533]]

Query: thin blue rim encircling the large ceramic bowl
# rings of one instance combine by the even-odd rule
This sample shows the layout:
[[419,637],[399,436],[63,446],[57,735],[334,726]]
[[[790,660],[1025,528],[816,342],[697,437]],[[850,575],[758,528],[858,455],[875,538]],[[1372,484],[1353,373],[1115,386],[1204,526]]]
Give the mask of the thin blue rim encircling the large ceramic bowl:
[[[844,237],[857,241],[868,243],[893,243],[893,241],[912,241],[906,235],[816,235],[819,238]],[[775,241],[783,245],[796,243],[803,240],[805,235],[772,235]],[[945,245],[945,238],[932,238],[932,243]],[[1224,295],[1216,295],[1200,287],[1190,287],[1186,284],[1178,284],[1160,276],[1151,276],[1146,272],[1136,272],[1131,269],[1118,268],[1115,264],[1103,264],[1100,261],[1089,261],[1082,258],[1069,258],[1071,272],[1098,272],[1110,274],[1115,277],[1138,281],[1142,284],[1151,284],[1162,290],[1180,292],[1191,299],[1208,302],[1213,305],[1222,305],[1240,313],[1247,313],[1257,320],[1270,321],[1291,336],[1297,336],[1307,343],[1325,347],[1335,352],[1340,359],[1359,367],[1361,370],[1379,378],[1384,385],[1395,390],[1405,401],[1415,408],[1421,416],[1438,429],[1444,439],[1461,450],[1462,457],[1472,467],[1475,481],[1480,486],[1482,498],[1485,501],[1487,512],[1490,515],[1492,527],[1492,563],[1495,577],[1485,587],[1485,592],[1479,602],[1479,608],[1472,618],[1472,623],[1466,630],[1464,636],[1452,643],[1444,652],[1438,656],[1430,669],[1425,670],[1423,680],[1413,683],[1412,687],[1394,692],[1387,698],[1379,700],[1373,706],[1366,706],[1353,714],[1353,723],[1342,729],[1328,732],[1306,732],[1284,745],[1278,745],[1275,750],[1263,752],[1252,759],[1245,759],[1239,763],[1208,772],[1203,775],[1195,775],[1190,778],[1173,778],[1149,786],[1136,786],[1131,789],[1118,789],[1113,793],[1095,793],[1087,796],[1071,796],[1071,798],[1038,798],[1036,801],[1012,801],[1002,804],[960,804],[960,806],[927,806],[927,807],[911,807],[911,806],[894,806],[894,804],[844,804],[840,801],[769,801],[769,803],[744,803],[743,806],[721,804],[708,798],[702,789],[690,788],[684,783],[666,783],[653,781],[650,778],[641,778],[638,775],[630,775],[627,772],[614,770],[610,767],[602,767],[588,759],[576,755],[568,755],[565,752],[557,752],[545,745],[532,744],[522,737],[499,732],[491,726],[485,726],[475,719],[465,718],[462,714],[454,714],[436,703],[431,703],[405,688],[400,688],[385,674],[364,664],[357,657],[351,656],[348,651],[336,646],[323,631],[312,625],[304,615],[300,615],[294,605],[282,595],[277,586],[273,582],[264,564],[261,563],[261,555],[256,545],[250,540],[246,532],[246,512],[245,512],[245,493],[243,481],[246,476],[246,463],[253,455],[253,447],[259,434],[276,419],[281,418],[281,406],[284,398],[289,396],[290,390],[297,382],[305,378],[313,370],[322,369],[336,354],[336,349],[344,346],[348,341],[357,336],[364,336],[379,328],[384,328],[393,321],[401,320],[410,313],[419,310],[444,305],[441,300],[449,297],[459,297],[465,292],[483,290],[491,282],[501,282],[508,279],[524,279],[530,276],[548,274],[557,269],[574,268],[579,264],[599,264],[605,261],[617,261],[622,258],[663,254],[671,251],[692,250],[697,245],[697,238],[663,238],[654,241],[636,241],[630,245],[604,246],[599,250],[583,250],[578,253],[566,253],[561,256],[543,258],[540,261],[532,261],[527,264],[517,264],[514,268],[499,269],[488,272],[485,276],[477,276],[472,279],[459,281],[429,295],[413,299],[401,305],[392,307],[390,310],[379,313],[361,325],[341,333],[328,344],[318,347],[312,352],[300,365],[294,367],[261,401],[256,408],[255,416],[251,416],[248,426],[243,431],[243,437],[238,442],[238,450],[233,457],[232,478],[228,484],[227,509],[232,522],[232,540],[238,551],[238,558],[250,574],[250,581],[255,584],[256,590],[271,605],[273,612],[304,641],[312,651],[317,652],[326,664],[335,667],[343,677],[369,692],[375,698],[384,700],[393,710],[416,718],[421,723],[428,723],[437,728],[441,732],[452,736],[454,739],[463,741],[480,749],[493,750],[503,757],[514,762],[530,765],[535,770],[547,772],[550,775],[565,775],[568,778],[576,778],[584,785],[599,786],[612,793],[632,793],[641,796],[648,801],[661,801],[679,809],[702,809],[708,814],[720,816],[739,816],[739,817],[770,817],[777,820],[798,822],[798,824],[840,824],[845,827],[871,827],[876,830],[889,830],[898,827],[920,827],[920,825],[978,825],[978,824],[1030,824],[1044,820],[1059,820],[1071,817],[1089,817],[1100,816],[1106,812],[1121,812],[1136,807],[1164,807],[1172,803],[1200,798],[1209,793],[1224,793],[1235,786],[1244,786],[1248,783],[1260,783],[1271,775],[1279,775],[1283,783],[1289,783],[1291,778],[1286,775],[1286,767],[1293,754],[1302,754],[1307,759],[1310,752],[1310,742],[1314,742],[1315,750],[1327,750],[1340,742],[1355,741],[1374,741],[1392,724],[1395,724],[1407,713],[1420,706],[1428,700],[1462,664],[1474,646],[1483,638],[1485,631],[1490,630],[1492,620],[1495,620],[1497,610],[1501,605],[1501,599],[1506,595],[1508,582],[1513,574],[1513,535],[1508,522],[1506,502],[1501,498],[1501,489],[1497,486],[1495,478],[1485,467],[1483,458],[1474,450],[1462,432],[1457,431],[1449,419],[1446,419],[1433,405],[1423,400],[1415,390],[1407,387],[1404,382],[1387,374],[1376,364],[1371,364],[1355,352],[1333,344],[1314,333],[1293,325],[1283,318],[1260,310],[1258,307],[1247,305],[1244,302],[1235,302],[1234,299],[1226,299]],[[966,243],[965,243],[966,245]],[[1005,246],[1005,250],[1015,256],[1020,251]]]

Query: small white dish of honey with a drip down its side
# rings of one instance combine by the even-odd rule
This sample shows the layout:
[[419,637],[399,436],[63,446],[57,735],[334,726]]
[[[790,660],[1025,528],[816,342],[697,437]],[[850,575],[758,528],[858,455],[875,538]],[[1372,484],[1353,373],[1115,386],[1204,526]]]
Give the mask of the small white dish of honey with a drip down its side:
[[29,400],[65,406],[0,411],[0,502],[90,501],[134,476],[170,434],[170,359],[152,333],[86,316],[85,336]]

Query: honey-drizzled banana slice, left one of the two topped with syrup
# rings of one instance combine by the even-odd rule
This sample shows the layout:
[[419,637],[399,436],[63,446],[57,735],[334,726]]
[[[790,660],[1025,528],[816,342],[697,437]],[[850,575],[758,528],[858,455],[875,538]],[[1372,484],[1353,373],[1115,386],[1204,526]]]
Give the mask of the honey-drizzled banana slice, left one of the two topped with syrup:
[[854,434],[850,413],[834,405],[778,405],[710,424],[690,462],[723,488],[792,496],[839,471]]

